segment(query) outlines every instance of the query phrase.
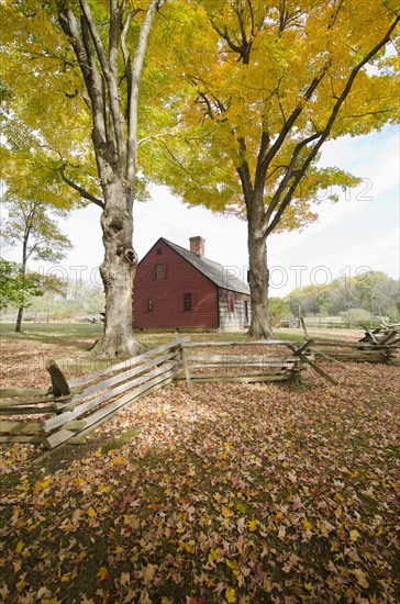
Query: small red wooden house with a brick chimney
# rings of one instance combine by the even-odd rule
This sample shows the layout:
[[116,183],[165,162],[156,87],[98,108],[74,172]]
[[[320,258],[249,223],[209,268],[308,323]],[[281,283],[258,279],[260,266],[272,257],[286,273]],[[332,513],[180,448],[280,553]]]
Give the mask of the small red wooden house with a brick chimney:
[[249,323],[249,289],[204,257],[202,237],[190,250],[160,237],[137,266],[133,307],[136,329],[238,331]]

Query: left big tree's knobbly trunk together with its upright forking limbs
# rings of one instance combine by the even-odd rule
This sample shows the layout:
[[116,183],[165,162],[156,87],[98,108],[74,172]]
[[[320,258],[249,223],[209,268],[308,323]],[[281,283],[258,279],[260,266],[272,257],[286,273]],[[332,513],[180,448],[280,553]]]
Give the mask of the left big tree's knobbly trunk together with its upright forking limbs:
[[71,43],[90,100],[87,104],[91,111],[92,143],[103,195],[103,200],[96,199],[67,178],[60,168],[68,184],[103,210],[104,260],[100,273],[107,302],[104,334],[93,348],[93,354],[99,356],[130,356],[142,349],[132,329],[132,286],[137,266],[132,247],[137,102],[148,34],[164,1],[149,0],[132,55],[126,36],[134,11],[127,10],[126,2],[109,2],[109,26],[107,18],[105,21],[101,18],[101,24],[98,21],[103,10],[96,11],[93,16],[90,4],[96,7],[96,2],[58,0],[56,3],[59,24]]

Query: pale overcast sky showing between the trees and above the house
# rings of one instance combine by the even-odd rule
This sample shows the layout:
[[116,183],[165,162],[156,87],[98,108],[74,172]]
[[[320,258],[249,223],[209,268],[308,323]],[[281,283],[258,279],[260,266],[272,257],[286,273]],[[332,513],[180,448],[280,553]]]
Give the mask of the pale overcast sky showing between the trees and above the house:
[[[340,275],[354,276],[366,268],[399,278],[400,192],[399,128],[357,138],[342,138],[325,145],[321,163],[337,166],[363,179],[340,202],[322,201],[319,221],[301,233],[273,235],[268,243],[271,270],[270,295],[286,295],[310,282],[326,283]],[[154,187],[152,201],[134,209],[134,247],[142,258],[158,237],[189,247],[189,237],[205,239],[205,256],[221,262],[242,278],[247,271],[246,224],[202,208],[188,208],[166,188]],[[52,270],[100,284],[98,267],[103,257],[100,209],[76,210],[62,228],[74,249],[62,267]],[[2,250],[7,259],[18,259],[16,250]],[[76,267],[76,268],[74,268]],[[77,268],[79,267],[79,268]],[[48,270],[47,266],[45,270]]]

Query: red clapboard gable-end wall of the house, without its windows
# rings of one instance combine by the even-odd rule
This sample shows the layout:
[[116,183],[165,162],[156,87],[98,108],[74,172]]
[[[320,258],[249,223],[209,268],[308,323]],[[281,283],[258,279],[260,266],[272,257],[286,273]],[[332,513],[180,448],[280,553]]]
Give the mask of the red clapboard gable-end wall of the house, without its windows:
[[[160,249],[160,254],[157,253]],[[156,265],[164,278],[156,279]],[[204,275],[159,241],[138,264],[135,282],[133,326],[137,329],[185,327],[216,328],[218,288]],[[184,294],[191,293],[192,310],[184,310]],[[154,310],[147,310],[153,299]]]

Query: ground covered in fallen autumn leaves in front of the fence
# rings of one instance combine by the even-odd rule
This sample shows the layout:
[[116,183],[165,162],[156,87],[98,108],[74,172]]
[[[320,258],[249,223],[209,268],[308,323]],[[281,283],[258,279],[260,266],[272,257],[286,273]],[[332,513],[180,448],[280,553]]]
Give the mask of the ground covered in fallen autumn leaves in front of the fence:
[[1,449],[0,599],[398,602],[399,368],[323,367],[170,385],[42,468]]

